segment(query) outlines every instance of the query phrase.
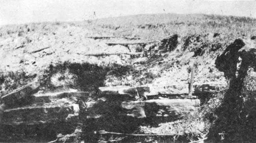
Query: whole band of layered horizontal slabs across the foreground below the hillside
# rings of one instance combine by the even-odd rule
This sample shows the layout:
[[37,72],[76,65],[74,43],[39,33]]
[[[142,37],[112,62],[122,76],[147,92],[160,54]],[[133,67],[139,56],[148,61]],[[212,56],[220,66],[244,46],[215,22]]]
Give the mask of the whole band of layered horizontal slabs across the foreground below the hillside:
[[[175,121],[200,106],[199,99],[186,98],[188,86],[99,87],[98,94],[91,98],[89,92],[35,93],[39,84],[28,84],[2,96],[4,105],[0,125],[4,132],[1,134],[7,136],[12,132],[8,136],[22,134],[22,138],[26,136],[40,139],[40,136],[47,134],[44,131],[47,127],[55,127],[51,131],[53,138],[59,133],[67,133],[63,131],[65,129],[75,129],[80,123],[86,127],[83,130],[86,134],[106,128],[111,131],[132,132],[145,123]],[[219,92],[225,87],[226,85],[215,83],[195,84],[193,95]],[[161,95],[170,95],[173,98],[164,98]],[[159,98],[149,99],[150,96]],[[20,127],[24,129],[20,131]],[[32,132],[27,132],[32,128],[41,130],[37,133],[40,136],[32,136]],[[9,140],[2,138],[1,141],[20,140],[15,137]]]

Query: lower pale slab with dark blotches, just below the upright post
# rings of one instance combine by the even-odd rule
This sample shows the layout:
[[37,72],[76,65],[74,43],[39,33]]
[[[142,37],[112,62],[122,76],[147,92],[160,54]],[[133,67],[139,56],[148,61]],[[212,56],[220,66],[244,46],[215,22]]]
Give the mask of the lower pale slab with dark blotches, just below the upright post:
[[[157,99],[146,101],[122,102],[122,108],[128,109],[127,116],[145,117],[180,117],[195,111],[200,106],[200,100],[195,99]],[[138,111],[140,111],[138,113]],[[145,115],[145,116],[143,116]]]

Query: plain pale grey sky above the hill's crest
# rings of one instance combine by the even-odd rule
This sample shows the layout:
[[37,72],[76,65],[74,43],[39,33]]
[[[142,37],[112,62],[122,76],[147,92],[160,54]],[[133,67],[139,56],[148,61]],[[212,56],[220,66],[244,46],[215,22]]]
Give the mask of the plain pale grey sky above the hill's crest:
[[256,18],[256,0],[0,0],[0,25],[154,13],[204,13]]

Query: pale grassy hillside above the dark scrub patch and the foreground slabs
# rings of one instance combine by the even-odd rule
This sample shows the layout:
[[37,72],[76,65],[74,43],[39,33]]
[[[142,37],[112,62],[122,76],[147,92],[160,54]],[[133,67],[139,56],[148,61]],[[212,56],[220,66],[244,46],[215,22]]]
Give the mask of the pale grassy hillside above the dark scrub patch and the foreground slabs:
[[[233,16],[156,14],[76,23],[7,25],[0,29],[2,61],[0,69],[4,74],[14,72],[15,75],[24,74],[20,76],[35,76],[36,74],[41,77],[50,64],[56,65],[65,61],[96,63],[97,65],[116,63],[125,66],[132,65],[136,73],[152,77],[141,81],[139,79],[143,77],[138,77],[141,75],[131,74],[132,71],[130,71],[130,74],[126,73],[124,78],[119,79],[119,83],[113,83],[113,85],[167,84],[187,82],[189,76],[187,65],[195,59],[199,66],[198,72],[196,72],[196,82],[223,80],[221,73],[214,68],[214,59],[224,47],[236,38],[250,39],[255,33],[254,23],[254,19]],[[116,55],[99,57],[84,55],[148,50],[143,49],[145,45],[129,45],[127,48],[120,45],[108,46],[106,42],[161,41],[174,34],[178,34],[178,44],[175,50],[161,55],[161,60],[163,60],[160,64],[148,61],[146,64],[136,64],[140,61],[145,62],[149,56],[142,58],[124,56],[121,58]],[[214,34],[215,37],[213,37]],[[87,38],[90,36],[126,36],[137,37],[137,39],[94,40]],[[40,49],[44,50],[34,52]],[[127,77],[129,78],[126,79]],[[20,82],[20,84],[24,84],[22,81]],[[4,80],[1,83],[4,83]],[[17,84],[19,85],[19,83]],[[3,89],[8,88],[10,87]]]

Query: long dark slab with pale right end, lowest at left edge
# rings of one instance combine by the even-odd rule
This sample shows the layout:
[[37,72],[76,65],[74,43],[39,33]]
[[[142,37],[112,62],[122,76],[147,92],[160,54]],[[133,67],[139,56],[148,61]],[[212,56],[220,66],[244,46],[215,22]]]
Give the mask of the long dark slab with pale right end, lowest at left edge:
[[68,121],[79,114],[78,104],[28,106],[3,111],[1,124],[35,125]]

